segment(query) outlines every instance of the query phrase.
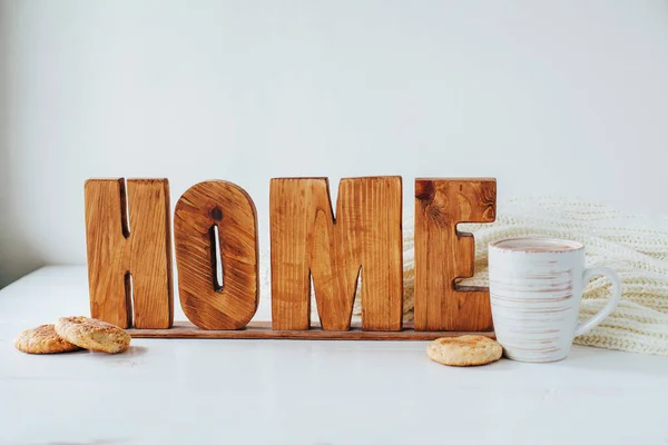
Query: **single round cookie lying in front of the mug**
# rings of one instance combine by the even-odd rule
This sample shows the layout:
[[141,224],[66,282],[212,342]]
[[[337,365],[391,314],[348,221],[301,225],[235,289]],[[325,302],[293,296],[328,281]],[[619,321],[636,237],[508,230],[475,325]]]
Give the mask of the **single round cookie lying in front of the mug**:
[[438,338],[426,346],[426,355],[434,362],[449,366],[479,366],[497,362],[503,348],[481,335]]

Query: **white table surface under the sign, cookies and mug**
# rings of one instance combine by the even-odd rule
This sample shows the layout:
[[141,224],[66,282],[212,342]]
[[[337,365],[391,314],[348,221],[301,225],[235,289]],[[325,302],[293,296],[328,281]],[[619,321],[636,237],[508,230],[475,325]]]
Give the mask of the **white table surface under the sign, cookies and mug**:
[[78,314],[84,267],[0,290],[1,444],[668,444],[666,357],[573,347],[553,364],[451,368],[426,358],[426,342],[13,348],[20,330]]

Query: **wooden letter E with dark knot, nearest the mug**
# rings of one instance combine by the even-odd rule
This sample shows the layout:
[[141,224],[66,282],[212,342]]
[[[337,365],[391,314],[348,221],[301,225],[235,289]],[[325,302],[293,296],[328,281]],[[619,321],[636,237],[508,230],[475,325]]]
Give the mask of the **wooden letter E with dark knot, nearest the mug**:
[[495,208],[494,179],[415,179],[415,329],[492,329],[489,289],[455,285],[475,260],[473,236],[456,225],[492,222]]

